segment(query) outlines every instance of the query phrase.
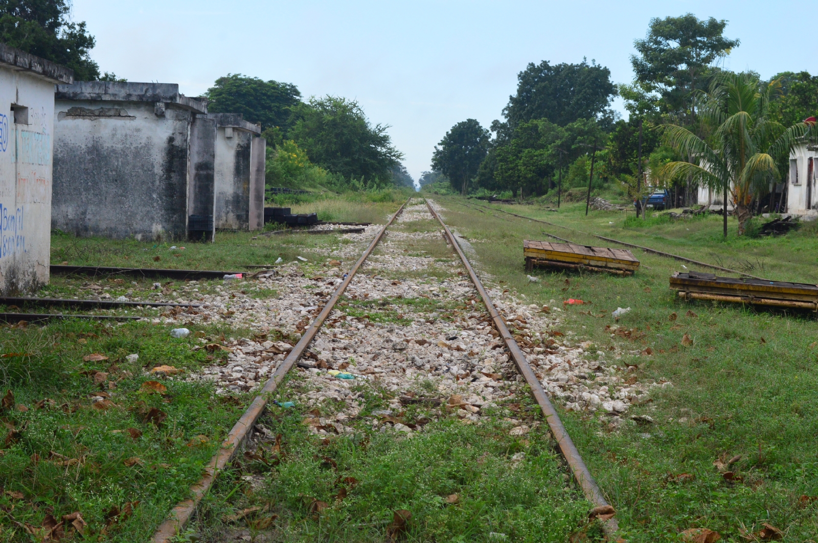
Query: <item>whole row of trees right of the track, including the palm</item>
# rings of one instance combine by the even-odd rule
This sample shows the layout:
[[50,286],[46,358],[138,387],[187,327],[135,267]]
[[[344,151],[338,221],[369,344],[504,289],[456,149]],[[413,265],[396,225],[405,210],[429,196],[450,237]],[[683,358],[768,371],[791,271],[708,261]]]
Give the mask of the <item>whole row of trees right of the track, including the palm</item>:
[[[456,123],[421,184],[559,201],[566,189],[613,182],[632,200],[666,187],[674,205],[690,204],[699,186],[726,187],[744,231],[754,209],[769,207],[789,150],[814,128],[804,120],[818,114],[818,76],[782,72],[765,81],[724,70],[740,45],[724,35],[726,25],[690,13],[651,20],[635,40],[628,84],[614,84],[596,61],[529,64],[503,120]],[[614,96],[624,99],[627,121],[611,109]],[[736,141],[748,142],[746,156],[731,156]]]

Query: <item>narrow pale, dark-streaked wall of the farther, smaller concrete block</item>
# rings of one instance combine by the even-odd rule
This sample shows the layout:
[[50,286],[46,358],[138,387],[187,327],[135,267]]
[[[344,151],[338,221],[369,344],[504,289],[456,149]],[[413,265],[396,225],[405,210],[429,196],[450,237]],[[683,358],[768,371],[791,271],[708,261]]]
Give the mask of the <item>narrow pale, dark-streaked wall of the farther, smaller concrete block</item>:
[[[231,230],[249,230],[252,141],[254,135],[261,130],[242,119],[240,114],[211,113],[208,117],[218,121],[215,153],[215,226]],[[254,218],[254,222],[255,220]]]

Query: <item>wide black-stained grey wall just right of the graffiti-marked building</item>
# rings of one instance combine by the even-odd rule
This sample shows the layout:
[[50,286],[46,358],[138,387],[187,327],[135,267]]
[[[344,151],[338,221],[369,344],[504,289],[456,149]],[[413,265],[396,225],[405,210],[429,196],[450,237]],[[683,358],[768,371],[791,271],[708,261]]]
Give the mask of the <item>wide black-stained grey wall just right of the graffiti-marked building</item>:
[[187,235],[191,112],[56,100],[52,227],[124,239]]

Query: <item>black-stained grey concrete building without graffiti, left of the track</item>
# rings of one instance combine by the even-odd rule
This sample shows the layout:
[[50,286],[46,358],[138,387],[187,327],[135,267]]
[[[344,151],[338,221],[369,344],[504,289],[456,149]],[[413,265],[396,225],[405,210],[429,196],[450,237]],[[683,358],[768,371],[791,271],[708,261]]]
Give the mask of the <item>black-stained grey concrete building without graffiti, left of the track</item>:
[[58,85],[54,112],[53,228],[212,240],[262,224],[264,143],[240,115],[208,114],[176,84],[92,81]]

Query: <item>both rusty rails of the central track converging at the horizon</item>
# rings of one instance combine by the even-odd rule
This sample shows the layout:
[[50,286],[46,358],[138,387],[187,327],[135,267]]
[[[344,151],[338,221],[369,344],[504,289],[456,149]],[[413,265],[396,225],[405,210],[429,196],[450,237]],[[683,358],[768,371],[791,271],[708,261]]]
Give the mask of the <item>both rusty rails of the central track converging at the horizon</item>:
[[[357,272],[359,272],[365,265],[367,259],[373,254],[375,247],[379,245],[381,240],[383,240],[384,235],[386,235],[389,228],[393,226],[393,223],[398,220],[398,217],[401,216],[404,210],[407,209],[410,202],[411,199],[410,201],[407,201],[407,203],[403,204],[396,213],[394,213],[392,218],[389,219],[389,222],[387,222],[384,227],[380,228],[380,231],[378,231],[374,239],[371,240],[371,243],[366,247],[366,250],[364,250],[360,258],[357,258],[357,262],[353,265],[353,267],[349,268],[348,272],[344,274],[343,280],[341,280],[340,284],[337,285],[335,291],[328,299],[326,299],[326,302],[312,323],[310,323],[303,330],[303,334],[298,343],[293,346],[284,360],[277,366],[270,378],[267,379],[267,382],[258,388],[254,401],[240,417],[240,420],[238,420],[232,427],[230,432],[227,434],[227,438],[224,440],[224,442],[222,442],[221,447],[218,449],[216,454],[213,455],[212,459],[209,461],[209,464],[207,464],[205,468],[205,475],[199,482],[196,482],[196,484],[191,487],[191,498],[182,501],[182,503],[173,508],[171,514],[169,514],[169,516],[165,519],[164,523],[157,528],[152,539],[154,543],[167,543],[171,541],[174,536],[177,536],[182,532],[185,524],[196,512],[196,508],[197,505],[199,505],[200,500],[209,491],[209,488],[212,487],[214,480],[218,477],[218,473],[236,457],[236,454],[242,449],[245,441],[250,438],[255,424],[257,423],[259,417],[263,414],[268,402],[271,402],[273,393],[276,392],[276,389],[279,387],[282,380],[285,379],[285,375],[287,375],[294,366],[307,366],[299,362],[300,359],[308,352],[308,348],[310,348],[313,341],[321,333],[322,326],[325,325],[328,320],[330,320],[330,315],[334,311],[336,304],[339,302],[342,295],[344,295],[344,293],[347,291],[349,285],[353,282]],[[456,240],[456,237],[452,235],[452,231],[450,231],[447,225],[443,222],[443,219],[435,211],[432,204],[430,204],[428,200],[425,201],[425,204],[429,210],[429,213],[431,214],[431,217],[438,221],[440,226],[443,228],[443,234],[446,238],[447,244],[452,245],[452,248],[460,257],[462,266],[465,267],[474,289],[477,290],[479,297],[482,299],[488,312],[488,317],[485,318],[484,321],[493,326],[494,333],[492,333],[492,336],[497,337],[502,342],[501,345],[498,344],[497,347],[503,347],[504,351],[510,355],[511,360],[513,360],[515,363],[519,375],[522,375],[526,384],[528,384],[528,386],[531,388],[533,397],[542,410],[542,415],[545,418],[549,429],[551,429],[551,433],[553,434],[557,445],[560,448],[560,452],[564,456],[566,463],[569,465],[569,468],[573,473],[573,477],[582,488],[587,500],[595,505],[595,510],[598,514],[605,515],[602,518],[608,518],[605,520],[604,524],[605,531],[609,533],[615,532],[617,529],[616,520],[614,518],[610,518],[613,514],[613,508],[610,507],[604,496],[602,496],[600,488],[591,477],[591,473],[588,471],[586,465],[582,461],[577,448],[573,445],[571,438],[564,429],[559,415],[557,415],[557,412],[549,401],[546,390],[543,388],[543,385],[538,379],[538,375],[535,373],[535,370],[533,370],[532,366],[529,364],[525,353],[512,336],[508,326],[506,325],[506,321],[503,319],[503,316],[501,316],[501,313],[497,311],[497,307],[495,307],[494,303],[492,303],[492,298],[489,297],[487,290],[483,287],[479,277],[474,272],[474,268],[471,266],[468,258],[466,258],[463,250]],[[416,211],[414,214],[418,215],[418,212]],[[462,275],[462,272],[460,272],[458,275]],[[393,281],[392,285],[395,285],[396,283],[399,284],[400,281]],[[363,295],[368,296],[368,293]],[[474,303],[474,301],[471,303]],[[474,305],[472,307],[474,307]],[[359,328],[362,329],[364,326],[361,325]],[[530,352],[530,349],[526,350]],[[428,368],[428,365],[425,367]]]

